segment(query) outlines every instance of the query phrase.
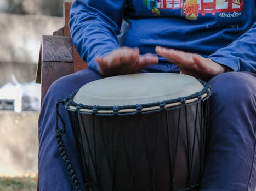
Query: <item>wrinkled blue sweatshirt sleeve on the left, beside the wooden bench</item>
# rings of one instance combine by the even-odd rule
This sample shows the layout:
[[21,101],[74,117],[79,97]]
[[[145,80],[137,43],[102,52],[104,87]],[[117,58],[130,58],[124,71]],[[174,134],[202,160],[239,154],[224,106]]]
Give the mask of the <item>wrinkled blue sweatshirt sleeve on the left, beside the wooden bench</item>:
[[70,34],[79,55],[98,70],[96,56],[120,47],[117,35],[126,6],[124,0],[74,0],[70,10]]

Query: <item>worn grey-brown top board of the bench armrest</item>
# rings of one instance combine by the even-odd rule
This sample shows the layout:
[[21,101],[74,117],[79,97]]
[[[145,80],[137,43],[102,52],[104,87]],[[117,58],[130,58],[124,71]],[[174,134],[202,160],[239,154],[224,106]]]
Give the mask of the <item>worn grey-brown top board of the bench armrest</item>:
[[73,46],[70,37],[42,37],[42,62],[73,62]]

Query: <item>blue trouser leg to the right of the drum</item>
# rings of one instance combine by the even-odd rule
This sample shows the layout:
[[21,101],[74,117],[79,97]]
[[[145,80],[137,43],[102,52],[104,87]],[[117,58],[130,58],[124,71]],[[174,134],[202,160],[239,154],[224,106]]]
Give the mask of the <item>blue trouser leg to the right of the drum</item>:
[[201,190],[256,187],[256,74],[213,77],[211,118]]

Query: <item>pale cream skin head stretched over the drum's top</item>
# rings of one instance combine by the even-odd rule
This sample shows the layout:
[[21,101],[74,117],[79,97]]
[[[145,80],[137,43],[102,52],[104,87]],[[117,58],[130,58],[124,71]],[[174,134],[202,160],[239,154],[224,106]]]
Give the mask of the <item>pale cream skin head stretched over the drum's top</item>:
[[173,73],[106,77],[82,86],[73,101],[83,105],[127,106],[187,97],[203,89],[195,77]]

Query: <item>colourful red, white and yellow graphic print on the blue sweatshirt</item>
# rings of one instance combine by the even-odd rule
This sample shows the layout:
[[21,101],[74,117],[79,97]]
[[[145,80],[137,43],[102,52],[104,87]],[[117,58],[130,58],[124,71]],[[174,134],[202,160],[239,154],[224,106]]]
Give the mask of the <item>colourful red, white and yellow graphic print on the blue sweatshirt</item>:
[[144,0],[144,5],[155,16],[161,14],[161,9],[181,9],[181,16],[189,20],[206,14],[238,17],[243,10],[243,0]]

